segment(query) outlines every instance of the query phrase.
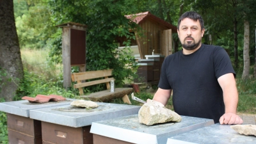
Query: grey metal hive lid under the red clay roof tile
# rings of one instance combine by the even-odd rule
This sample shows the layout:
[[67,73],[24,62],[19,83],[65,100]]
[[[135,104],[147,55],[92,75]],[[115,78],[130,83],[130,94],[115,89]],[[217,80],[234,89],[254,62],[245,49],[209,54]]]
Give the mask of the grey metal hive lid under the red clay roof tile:
[[28,100],[17,100],[12,102],[0,102],[0,111],[10,113],[13,115],[19,115],[29,117],[30,109],[47,108],[51,106],[68,105],[74,99],[67,99],[59,102],[47,102],[44,104],[29,102]]

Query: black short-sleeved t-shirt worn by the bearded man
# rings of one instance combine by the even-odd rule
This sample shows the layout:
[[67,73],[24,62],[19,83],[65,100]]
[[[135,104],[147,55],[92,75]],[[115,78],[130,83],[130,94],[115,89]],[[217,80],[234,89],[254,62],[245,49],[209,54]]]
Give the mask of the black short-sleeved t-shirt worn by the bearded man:
[[173,90],[173,107],[179,115],[210,118],[218,123],[225,113],[218,78],[228,73],[236,76],[227,52],[219,46],[202,44],[192,54],[179,51],[168,56],[158,87]]

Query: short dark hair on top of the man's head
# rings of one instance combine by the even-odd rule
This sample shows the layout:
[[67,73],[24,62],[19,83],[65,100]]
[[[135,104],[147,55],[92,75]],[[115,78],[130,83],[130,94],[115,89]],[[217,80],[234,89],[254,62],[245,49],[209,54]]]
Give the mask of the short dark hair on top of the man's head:
[[204,20],[203,18],[201,17],[201,15],[199,15],[198,13],[196,12],[186,12],[186,13],[183,13],[181,16],[180,16],[180,19],[178,21],[178,30],[179,30],[179,27],[180,27],[180,22],[181,20],[185,19],[185,18],[189,18],[189,19],[193,19],[194,21],[196,20],[199,20],[200,22],[200,25],[201,25],[201,30],[204,29]]

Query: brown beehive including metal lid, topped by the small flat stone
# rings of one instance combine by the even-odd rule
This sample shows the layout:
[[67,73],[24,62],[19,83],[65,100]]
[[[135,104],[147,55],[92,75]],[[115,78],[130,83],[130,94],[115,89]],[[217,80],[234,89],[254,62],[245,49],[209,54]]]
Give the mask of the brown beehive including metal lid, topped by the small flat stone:
[[92,122],[108,120],[138,113],[140,106],[97,102],[95,109],[56,106],[33,109],[30,117],[42,121],[43,143],[92,144]]

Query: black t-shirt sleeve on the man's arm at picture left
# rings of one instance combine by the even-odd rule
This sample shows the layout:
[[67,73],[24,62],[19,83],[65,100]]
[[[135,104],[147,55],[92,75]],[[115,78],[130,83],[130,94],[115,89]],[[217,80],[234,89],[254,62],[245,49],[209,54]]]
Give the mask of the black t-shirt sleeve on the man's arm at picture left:
[[164,59],[163,65],[161,67],[161,75],[160,75],[160,80],[159,80],[159,84],[158,84],[158,88],[161,88],[161,89],[164,89],[164,90],[172,89],[169,82],[168,82],[167,76],[166,76],[166,72],[167,72],[167,69],[168,69],[167,68],[168,60],[169,60],[169,58]]

